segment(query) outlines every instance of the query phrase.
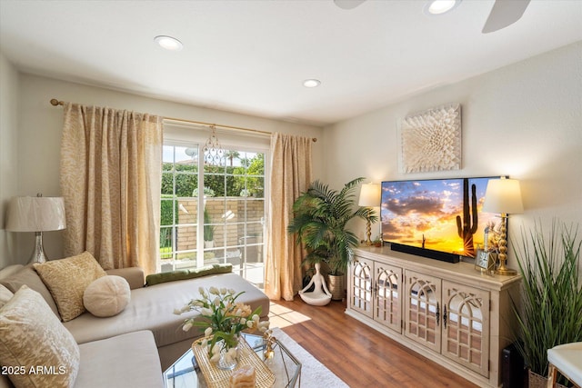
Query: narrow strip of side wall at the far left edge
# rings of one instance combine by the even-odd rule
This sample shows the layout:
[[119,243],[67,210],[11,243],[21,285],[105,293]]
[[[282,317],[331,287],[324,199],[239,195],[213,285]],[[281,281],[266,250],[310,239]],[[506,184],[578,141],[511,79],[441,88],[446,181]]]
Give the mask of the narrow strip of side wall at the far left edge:
[[[0,268],[16,264],[14,233],[5,231],[5,209],[17,192],[18,73],[0,53]],[[32,252],[32,250],[31,250]]]

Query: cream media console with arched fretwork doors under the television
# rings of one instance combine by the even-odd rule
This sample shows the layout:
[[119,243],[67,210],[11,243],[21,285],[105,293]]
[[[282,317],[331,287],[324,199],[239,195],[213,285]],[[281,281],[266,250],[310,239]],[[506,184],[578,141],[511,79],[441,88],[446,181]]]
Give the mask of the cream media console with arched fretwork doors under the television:
[[346,313],[479,386],[501,384],[521,278],[482,274],[389,247],[355,250]]

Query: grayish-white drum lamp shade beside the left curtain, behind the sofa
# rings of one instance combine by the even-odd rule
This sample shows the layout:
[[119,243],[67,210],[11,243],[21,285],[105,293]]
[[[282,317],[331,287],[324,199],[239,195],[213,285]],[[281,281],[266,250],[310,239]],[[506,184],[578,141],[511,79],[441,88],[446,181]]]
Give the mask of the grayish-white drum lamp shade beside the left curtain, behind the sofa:
[[17,196],[10,201],[6,230],[45,232],[65,227],[65,201],[61,197]]

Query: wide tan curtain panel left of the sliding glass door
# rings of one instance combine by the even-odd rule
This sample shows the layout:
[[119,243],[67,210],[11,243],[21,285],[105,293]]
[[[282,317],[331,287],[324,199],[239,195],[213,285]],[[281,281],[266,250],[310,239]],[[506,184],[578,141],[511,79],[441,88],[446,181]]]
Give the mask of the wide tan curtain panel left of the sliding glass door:
[[105,269],[156,272],[162,144],[160,116],[65,104],[66,255],[88,251]]

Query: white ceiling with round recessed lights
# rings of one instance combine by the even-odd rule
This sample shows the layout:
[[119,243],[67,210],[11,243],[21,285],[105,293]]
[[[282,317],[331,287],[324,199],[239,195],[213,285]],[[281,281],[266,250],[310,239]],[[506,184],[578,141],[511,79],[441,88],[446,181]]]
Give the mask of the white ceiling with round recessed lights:
[[481,34],[493,4],[0,0],[0,50],[26,73],[323,126],[582,40],[581,0],[532,0]]

